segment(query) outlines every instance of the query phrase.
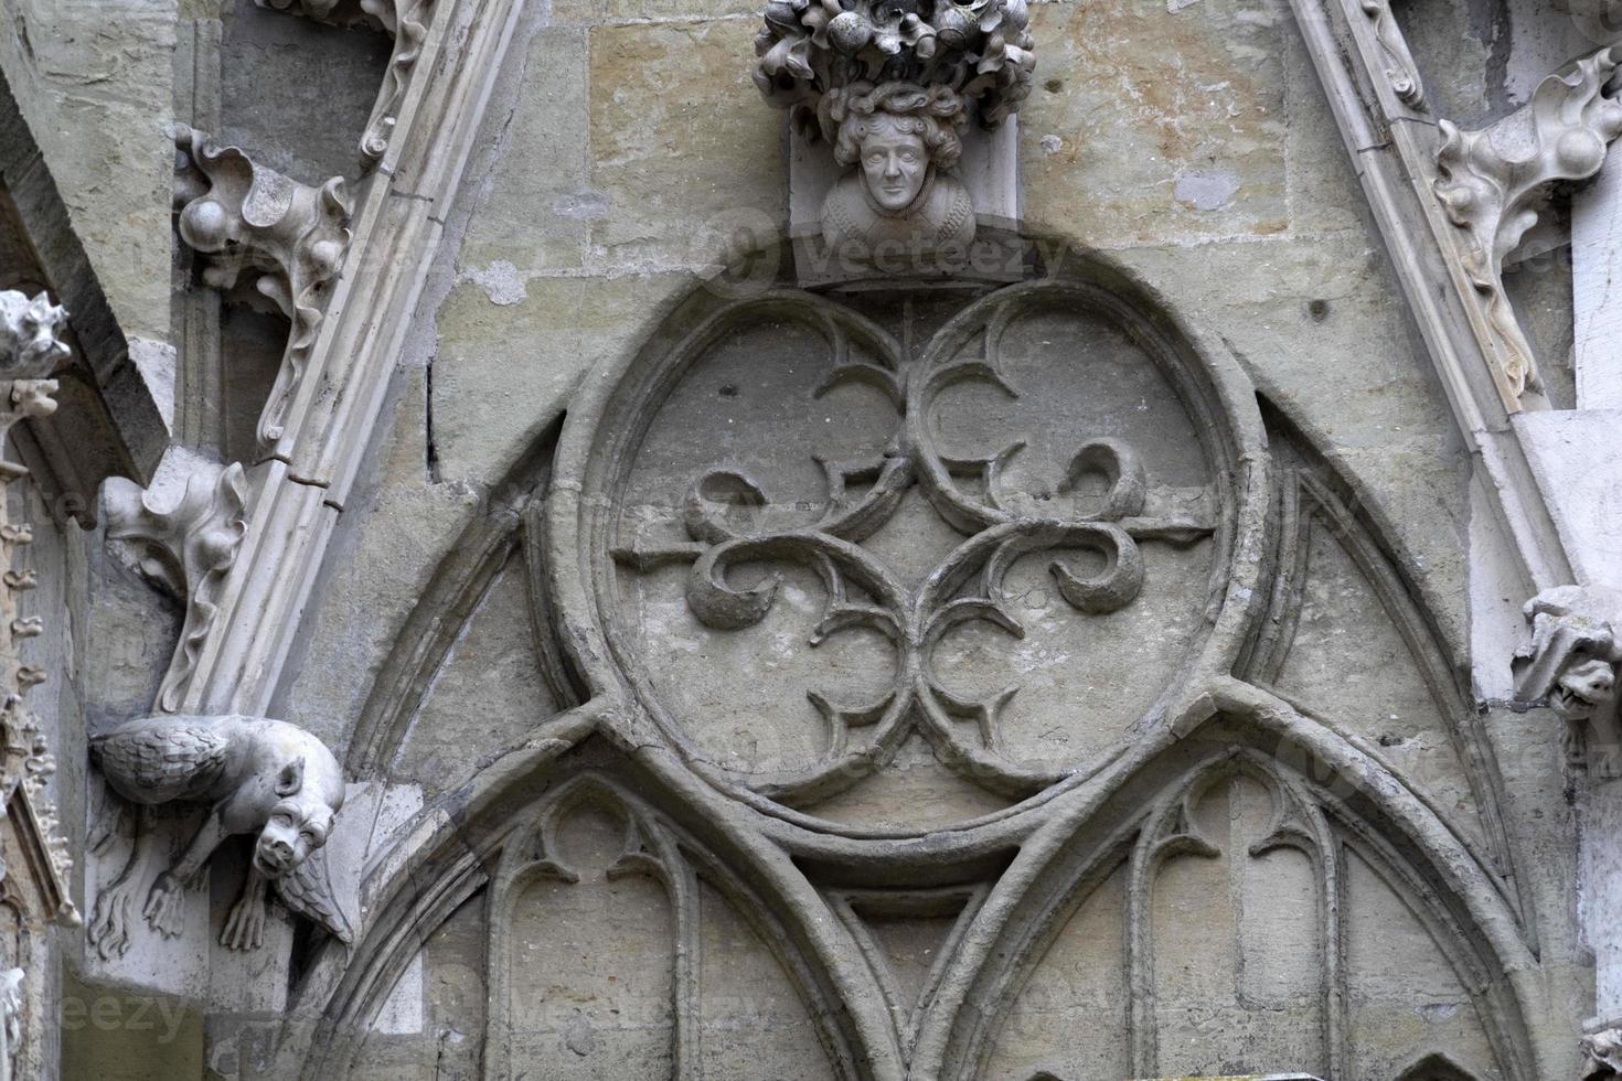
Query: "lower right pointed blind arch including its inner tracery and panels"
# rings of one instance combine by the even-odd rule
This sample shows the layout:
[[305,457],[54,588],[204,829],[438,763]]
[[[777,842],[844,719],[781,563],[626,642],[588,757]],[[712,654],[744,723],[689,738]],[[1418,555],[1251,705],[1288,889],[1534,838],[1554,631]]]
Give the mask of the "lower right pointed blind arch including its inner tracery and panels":
[[[1307,1062],[1275,1065],[1327,1078],[1431,1076],[1413,1071],[1437,1063],[1455,1071],[1439,1076],[1526,1081],[1547,1076],[1538,1065],[1521,1008],[1523,1002],[1536,1002],[1538,990],[1536,981],[1528,979],[1534,968],[1515,912],[1450,827],[1345,736],[1262,689],[1225,681],[1213,687],[1208,708],[1212,713],[1204,720],[1189,721],[1181,739],[1155,741],[1134,754],[1132,763],[1100,778],[1100,784],[1054,801],[1046,825],[1022,846],[965,937],[968,946],[942,981],[957,989],[955,1002],[942,1003],[926,1021],[913,1068],[938,1070],[938,1076],[1014,1076],[1009,1058],[998,1057],[1002,1045],[1041,1044],[1040,1034],[1020,1028],[1015,1016],[1027,985],[1040,984],[1038,969],[1067,934],[1096,935],[1108,929],[1116,935],[1111,945],[1088,956],[1111,958],[1109,966],[1100,968],[1119,969],[1116,982],[1096,979],[1095,972],[1075,979],[1079,984],[1093,979],[1119,993],[1119,1000],[1111,1000],[1114,1013],[1080,1021],[1100,1045],[1108,1042],[1105,1029],[1113,1026],[1118,1058],[1090,1063],[1093,1073],[1077,1071],[1074,1063],[1020,1060],[1017,1076],[1220,1071],[1216,1063],[1187,1062],[1187,1044],[1168,1042],[1168,1032],[1178,1031],[1181,1003],[1168,1003],[1166,987],[1156,982],[1156,937],[1176,930],[1168,919],[1195,912],[1179,908],[1176,898],[1163,903],[1163,872],[1174,861],[1202,865],[1228,857],[1246,864],[1289,851],[1306,867],[1298,877],[1311,883],[1307,895],[1296,898],[1302,925],[1293,934],[1288,912],[1273,909],[1267,912],[1273,921],[1267,934],[1291,946],[1299,938],[1306,946],[1294,959],[1311,958],[1298,972],[1309,984],[1301,993],[1307,1005],[1291,1024],[1311,1029],[1314,1037]],[[1233,838],[1213,833],[1212,815],[1200,809],[1207,796],[1239,780],[1265,793],[1267,812],[1244,838],[1247,844],[1231,844],[1238,831]],[[1216,822],[1226,825],[1226,817],[1218,814]],[[1277,869],[1264,874],[1272,875],[1265,880],[1270,890],[1288,891],[1293,885]],[[1210,885],[1199,878],[1194,883],[1202,890]],[[1371,901],[1375,893],[1380,903]],[[1236,896],[1242,898],[1242,891]],[[1080,914],[1098,898],[1114,906],[1114,912],[1103,921],[1093,912],[1093,921],[1083,924]],[[1229,934],[1242,937],[1242,904],[1234,908],[1239,924]],[[1212,955],[1221,953],[1223,909],[1225,898],[1208,904],[1202,898],[1199,908],[1204,932],[1218,943]],[[1380,922],[1390,914],[1406,925]],[[1384,953],[1372,948],[1371,930],[1398,945]],[[1419,950],[1431,956],[1418,956]],[[1200,968],[1200,958],[1173,956],[1176,964],[1168,968],[1176,969],[1174,977]],[[1419,1034],[1379,1032],[1380,1021],[1359,1016],[1369,1000],[1354,992],[1380,979],[1382,966],[1395,968],[1401,979],[1424,985],[1429,993],[1437,993],[1437,982],[1445,984],[1444,1011],[1453,1011],[1455,1021],[1463,1016],[1468,1024],[1452,1029],[1421,1024]],[[1244,985],[1242,972],[1229,976],[1234,976],[1229,985]],[[1288,982],[1273,969],[1264,979]],[[1079,1006],[1088,1003],[1090,987],[1069,989]],[[1035,1002],[1041,1002],[1041,992],[1038,985]],[[1416,993],[1419,1006],[1422,993]],[[1244,1003],[1242,993],[1238,1002]],[[1216,1013],[1204,1018],[1207,1028],[1218,1023]],[[1064,1023],[1077,1019],[1066,1016]],[[1452,1045],[1426,1044],[1447,1037]],[[1403,1039],[1414,1045],[1403,1045]],[[1470,1062],[1474,1073],[1460,1060]]]

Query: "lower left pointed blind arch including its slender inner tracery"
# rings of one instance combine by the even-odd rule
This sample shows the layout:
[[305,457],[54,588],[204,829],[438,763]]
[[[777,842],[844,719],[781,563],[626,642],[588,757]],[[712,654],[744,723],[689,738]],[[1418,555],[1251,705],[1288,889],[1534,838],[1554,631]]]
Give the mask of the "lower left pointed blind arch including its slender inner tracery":
[[[590,968],[597,953],[613,955],[610,938],[586,943],[571,935],[592,935],[592,911],[599,903],[611,909],[624,899],[613,893],[633,883],[644,901],[665,909],[636,925],[668,925],[652,943],[659,950],[626,961],[616,976],[636,981],[649,974],[642,969],[659,969],[654,976],[665,984],[659,989],[663,1023],[655,1026],[663,1029],[662,1073],[717,1076],[714,1065],[697,1063],[710,1039],[701,1008],[717,995],[736,993],[714,974],[720,968],[712,955],[714,914],[725,912],[733,929],[751,937],[759,956],[779,966],[792,1000],[788,1011],[814,1031],[806,1050],[819,1049],[827,1076],[900,1081],[905,1071],[889,1039],[882,992],[860,961],[842,953],[837,917],[792,861],[764,838],[738,830],[730,822],[736,809],[728,812],[727,801],[668,752],[628,754],[590,736],[590,726],[589,708],[561,715],[534,746],[503,755],[459,791],[459,817],[430,812],[380,865],[365,888],[371,917],[354,951],[323,950],[298,987],[281,1032],[281,1070],[308,1081],[355,1071],[375,1076],[367,1073],[367,1042],[380,1011],[412,959],[459,909],[474,906],[485,940],[482,985],[488,1003],[487,1029],[467,1034],[483,1047],[477,1076],[526,1076],[539,1052],[530,1045],[526,1057],[524,1040],[566,1034],[514,1019],[511,1010],[548,998],[511,987],[521,972],[514,961],[524,959],[530,972],[558,987],[569,985],[576,969]],[[597,833],[607,844],[584,857],[576,830],[582,817],[608,823]],[[529,895],[535,887],[550,890],[551,901],[594,888],[597,896],[587,898],[581,921],[543,922],[524,938],[517,909],[545,908]],[[629,924],[621,930],[631,934]],[[526,943],[534,948],[548,937],[563,943],[563,955],[532,958]],[[663,955],[663,964],[655,953]],[[561,1000],[569,1005],[571,995]],[[637,1023],[628,1021],[624,1029],[634,1039]],[[720,1076],[730,1075],[723,1068]]]

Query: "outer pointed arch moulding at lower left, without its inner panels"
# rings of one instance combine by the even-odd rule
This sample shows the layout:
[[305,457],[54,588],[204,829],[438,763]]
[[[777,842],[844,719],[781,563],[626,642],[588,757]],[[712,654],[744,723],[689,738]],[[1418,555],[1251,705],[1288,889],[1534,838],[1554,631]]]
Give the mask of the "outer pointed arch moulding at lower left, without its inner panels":
[[[545,849],[537,841],[571,809],[602,804],[623,822],[641,823],[637,836],[660,838],[659,874],[668,877],[673,896],[704,882],[754,927],[800,989],[837,1076],[905,1076],[876,1005],[879,987],[860,959],[843,955],[837,917],[793,862],[740,828],[740,812],[717,805],[719,797],[668,752],[628,750],[594,736],[599,710],[587,705],[555,718],[529,746],[427,809],[410,836],[376,861],[363,887],[368,917],[357,945],[350,953],[328,946],[316,958],[284,1024],[282,1062],[310,1081],[347,1076],[394,984],[436,929],[480,895],[496,916],[490,906],[500,898],[490,891],[534,877],[526,867],[566,878],[564,864],[532,859]],[[631,864],[644,859],[631,857]],[[689,951],[691,943],[681,956]],[[680,964],[691,964],[691,956]]]

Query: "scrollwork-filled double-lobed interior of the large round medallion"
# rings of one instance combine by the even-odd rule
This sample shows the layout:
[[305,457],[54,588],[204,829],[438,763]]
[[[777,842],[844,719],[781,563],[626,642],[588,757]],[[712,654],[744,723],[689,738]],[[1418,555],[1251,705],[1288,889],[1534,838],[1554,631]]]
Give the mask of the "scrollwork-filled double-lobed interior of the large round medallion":
[[[756,348],[787,352],[749,366]],[[1025,797],[1108,757],[1166,684],[1231,663],[1242,619],[1212,629],[1238,532],[1262,525],[1265,464],[1244,451],[1257,421],[1231,394],[1236,373],[1213,374],[1108,290],[993,293],[915,360],[853,311],[772,293],[710,318],[655,368],[668,374],[631,378],[600,407],[616,423],[599,421],[589,520],[569,527],[602,536],[587,551],[611,564],[589,556],[595,601],[568,614],[605,626],[608,653],[582,648],[611,656],[613,679],[723,786],[813,805],[918,734],[962,778]],[[715,381],[738,415],[706,441],[699,417],[719,415],[696,395]],[[573,543],[548,540],[556,567],[579,566]],[[649,650],[672,647],[647,635],[678,619],[676,582],[696,622],[660,661]],[[1247,609],[1252,592],[1236,600]],[[809,650],[790,645],[801,617]],[[1025,650],[1012,681],[1011,642]],[[727,660],[697,661],[712,650]],[[762,668],[761,650],[780,660]],[[1140,658],[1147,671],[1126,676]],[[759,699],[710,705],[727,663],[751,668],[740,677]],[[782,716],[800,677],[821,733]]]

